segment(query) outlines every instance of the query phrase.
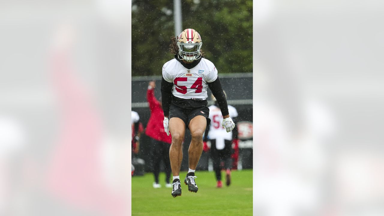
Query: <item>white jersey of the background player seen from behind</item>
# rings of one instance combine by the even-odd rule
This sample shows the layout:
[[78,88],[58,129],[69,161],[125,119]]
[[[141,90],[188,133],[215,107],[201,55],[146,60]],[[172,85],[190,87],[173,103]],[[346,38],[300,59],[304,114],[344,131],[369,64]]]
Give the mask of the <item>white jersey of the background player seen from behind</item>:
[[[228,112],[231,118],[238,116],[236,108],[231,105],[228,105]],[[223,116],[219,107],[215,105],[209,106],[209,118],[211,124],[209,126],[208,138],[210,140],[216,140],[216,148],[221,150],[224,148],[224,140],[232,140],[232,131],[227,133],[221,125]]]

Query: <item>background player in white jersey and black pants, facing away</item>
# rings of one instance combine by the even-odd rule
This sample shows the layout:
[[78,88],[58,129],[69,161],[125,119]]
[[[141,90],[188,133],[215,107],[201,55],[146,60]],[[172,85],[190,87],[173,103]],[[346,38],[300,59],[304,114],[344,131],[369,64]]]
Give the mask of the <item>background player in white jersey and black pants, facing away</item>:
[[[227,94],[224,91],[224,95],[227,98]],[[220,124],[223,121],[223,116],[220,111],[220,107],[217,104],[216,98],[214,95],[211,95],[214,105],[209,106],[209,119],[211,120],[210,126],[205,130],[204,136],[204,151],[208,151],[207,146],[208,138],[211,142],[210,148],[210,157],[212,158],[217,187],[222,187],[221,181],[221,161],[224,162],[224,168],[226,171],[225,183],[227,186],[231,183],[231,167],[232,167],[232,143],[234,146],[238,145],[237,140],[237,128],[235,127],[233,131],[227,133],[225,128]],[[238,116],[236,108],[231,105],[228,105],[229,115],[232,116],[232,120],[236,123],[236,117]]]

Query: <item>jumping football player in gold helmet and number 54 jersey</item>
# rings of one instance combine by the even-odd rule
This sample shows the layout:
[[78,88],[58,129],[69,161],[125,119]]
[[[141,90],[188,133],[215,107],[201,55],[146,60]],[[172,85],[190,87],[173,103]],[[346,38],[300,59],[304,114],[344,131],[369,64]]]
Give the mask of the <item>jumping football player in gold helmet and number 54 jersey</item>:
[[172,135],[169,150],[170,166],[173,174],[172,196],[181,196],[180,166],[182,161],[181,143],[185,129],[189,128],[192,136],[189,145],[189,170],[184,183],[188,190],[197,192],[195,169],[203,150],[203,133],[209,123],[207,107],[207,86],[215,96],[223,115],[222,126],[232,131],[235,123],[228,113],[220,80],[215,65],[203,58],[202,40],[194,29],[185,29],[177,38],[172,37],[170,53],[174,59],[162,68],[161,95],[164,111],[164,130]]

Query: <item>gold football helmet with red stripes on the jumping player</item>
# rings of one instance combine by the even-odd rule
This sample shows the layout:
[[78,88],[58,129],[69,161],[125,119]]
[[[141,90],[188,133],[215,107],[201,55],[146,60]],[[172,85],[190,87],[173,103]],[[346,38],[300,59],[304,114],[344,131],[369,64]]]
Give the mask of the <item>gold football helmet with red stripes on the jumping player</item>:
[[177,37],[177,47],[179,47],[179,58],[191,62],[201,58],[200,49],[203,45],[199,33],[192,28],[182,31]]

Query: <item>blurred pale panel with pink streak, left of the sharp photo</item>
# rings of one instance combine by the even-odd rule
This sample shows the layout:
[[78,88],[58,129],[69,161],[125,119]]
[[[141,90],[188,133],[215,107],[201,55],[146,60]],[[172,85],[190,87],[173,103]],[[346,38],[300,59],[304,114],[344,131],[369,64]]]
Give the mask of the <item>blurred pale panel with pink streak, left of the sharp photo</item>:
[[129,214],[129,18],[129,1],[0,2],[0,215]]

